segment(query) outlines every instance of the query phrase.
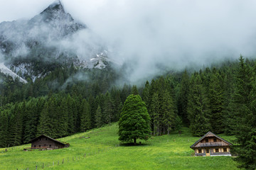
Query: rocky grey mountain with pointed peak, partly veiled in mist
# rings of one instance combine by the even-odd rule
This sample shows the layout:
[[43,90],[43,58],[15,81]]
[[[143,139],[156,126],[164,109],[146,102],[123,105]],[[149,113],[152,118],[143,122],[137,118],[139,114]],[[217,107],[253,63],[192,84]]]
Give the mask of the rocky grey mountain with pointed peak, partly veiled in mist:
[[66,13],[60,1],[30,20],[0,23],[0,55],[1,72],[7,68],[13,77],[33,80],[56,67],[104,69],[109,62],[100,38]]

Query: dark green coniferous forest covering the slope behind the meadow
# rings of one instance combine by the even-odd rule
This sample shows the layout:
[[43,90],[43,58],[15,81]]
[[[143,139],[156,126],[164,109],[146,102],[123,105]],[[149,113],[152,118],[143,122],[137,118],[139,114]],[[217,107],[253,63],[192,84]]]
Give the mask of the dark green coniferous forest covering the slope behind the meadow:
[[241,56],[196,71],[169,72],[144,86],[116,84],[122,75],[110,67],[104,72],[58,68],[35,81],[27,77],[28,84],[0,77],[0,147],[117,122],[127,96],[139,94],[151,117],[151,135],[168,135],[182,126],[198,137],[208,131],[235,135],[237,161],[255,168],[256,60]]

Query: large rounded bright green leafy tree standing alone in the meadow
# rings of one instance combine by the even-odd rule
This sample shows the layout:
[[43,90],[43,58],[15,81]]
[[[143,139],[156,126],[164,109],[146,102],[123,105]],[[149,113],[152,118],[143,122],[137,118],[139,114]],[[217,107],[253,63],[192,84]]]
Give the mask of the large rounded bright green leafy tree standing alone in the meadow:
[[147,140],[151,134],[150,117],[146,104],[139,95],[130,95],[124,102],[119,119],[119,140],[129,142],[134,140]]

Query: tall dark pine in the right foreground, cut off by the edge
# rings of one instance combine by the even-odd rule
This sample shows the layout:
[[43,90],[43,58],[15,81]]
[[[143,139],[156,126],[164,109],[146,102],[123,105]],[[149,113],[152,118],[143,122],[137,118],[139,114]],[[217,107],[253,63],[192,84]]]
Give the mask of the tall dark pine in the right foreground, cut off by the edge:
[[233,147],[241,168],[256,169],[256,78],[247,62],[240,56],[233,106],[235,112],[235,137],[239,145]]

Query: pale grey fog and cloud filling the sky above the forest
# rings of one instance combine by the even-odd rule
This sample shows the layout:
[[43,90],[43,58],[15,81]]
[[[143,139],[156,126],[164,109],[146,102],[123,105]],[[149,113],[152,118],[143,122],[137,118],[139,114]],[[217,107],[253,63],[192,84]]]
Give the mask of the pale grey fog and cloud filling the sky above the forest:
[[[1,22],[32,18],[53,1],[0,2]],[[107,43],[111,60],[131,63],[127,75],[134,82],[159,74],[164,67],[200,67],[226,58],[236,60],[240,54],[255,57],[254,0],[61,2],[75,20]]]

